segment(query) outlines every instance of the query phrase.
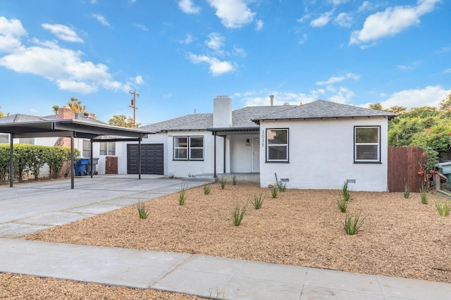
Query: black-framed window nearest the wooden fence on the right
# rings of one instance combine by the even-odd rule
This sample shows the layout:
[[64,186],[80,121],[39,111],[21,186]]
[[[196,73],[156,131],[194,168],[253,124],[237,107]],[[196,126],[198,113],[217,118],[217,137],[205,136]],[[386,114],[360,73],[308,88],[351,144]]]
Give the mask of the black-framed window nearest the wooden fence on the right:
[[381,161],[381,127],[354,127],[354,162]]

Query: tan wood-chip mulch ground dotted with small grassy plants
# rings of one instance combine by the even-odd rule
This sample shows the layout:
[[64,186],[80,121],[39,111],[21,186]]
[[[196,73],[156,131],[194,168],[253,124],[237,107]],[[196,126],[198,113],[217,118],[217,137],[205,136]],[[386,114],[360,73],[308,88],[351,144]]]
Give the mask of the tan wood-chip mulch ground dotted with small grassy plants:
[[[264,204],[256,210],[252,200],[260,192]],[[137,206],[128,206],[23,238],[204,254],[451,283],[451,216],[442,217],[435,209],[435,202],[445,201],[443,197],[428,194],[425,205],[418,193],[404,199],[403,193],[352,192],[348,212],[361,213],[365,219],[357,235],[347,235],[343,230],[346,213],[336,206],[339,195],[338,190],[288,189],[273,199],[270,189],[260,189],[258,185],[228,183],[221,189],[216,183],[211,185],[208,195],[203,187],[188,190],[183,206],[178,204],[178,193],[145,202],[149,208],[147,219],[138,217]],[[247,202],[242,224],[234,226],[235,205]],[[12,286],[4,278],[12,275],[1,276],[0,298],[1,289],[4,294]],[[13,278],[22,287],[20,277]],[[44,285],[49,290],[52,285],[59,287],[66,282],[26,278],[25,282],[42,280],[32,286]],[[126,298],[117,292],[124,288],[77,282],[65,285],[70,285],[69,290],[102,291],[104,299]],[[158,291],[132,291],[157,293],[142,296],[149,299],[171,299],[169,296],[196,299],[180,294],[160,298]],[[79,299],[76,295],[66,299]]]

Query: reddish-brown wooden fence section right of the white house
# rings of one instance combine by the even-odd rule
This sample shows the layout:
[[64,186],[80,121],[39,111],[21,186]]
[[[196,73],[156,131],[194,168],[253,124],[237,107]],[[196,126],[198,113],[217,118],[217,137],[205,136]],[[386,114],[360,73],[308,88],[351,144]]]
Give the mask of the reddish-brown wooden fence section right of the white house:
[[419,192],[424,177],[418,175],[426,158],[419,147],[388,147],[388,191],[404,192],[407,184],[411,192]]

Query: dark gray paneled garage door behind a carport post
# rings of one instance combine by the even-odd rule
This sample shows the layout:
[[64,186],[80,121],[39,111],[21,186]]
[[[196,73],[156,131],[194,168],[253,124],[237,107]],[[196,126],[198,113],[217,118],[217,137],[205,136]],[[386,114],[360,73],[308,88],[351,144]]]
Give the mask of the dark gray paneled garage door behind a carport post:
[[[127,145],[127,173],[138,173],[138,145]],[[141,174],[163,175],[163,144],[141,144]]]

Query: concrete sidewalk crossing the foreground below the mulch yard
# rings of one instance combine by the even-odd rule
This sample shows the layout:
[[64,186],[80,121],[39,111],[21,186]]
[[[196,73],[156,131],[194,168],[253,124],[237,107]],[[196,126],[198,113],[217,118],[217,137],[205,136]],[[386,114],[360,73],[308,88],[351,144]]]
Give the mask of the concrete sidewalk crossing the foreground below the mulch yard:
[[450,299],[451,284],[240,261],[0,238],[0,272],[219,299]]

